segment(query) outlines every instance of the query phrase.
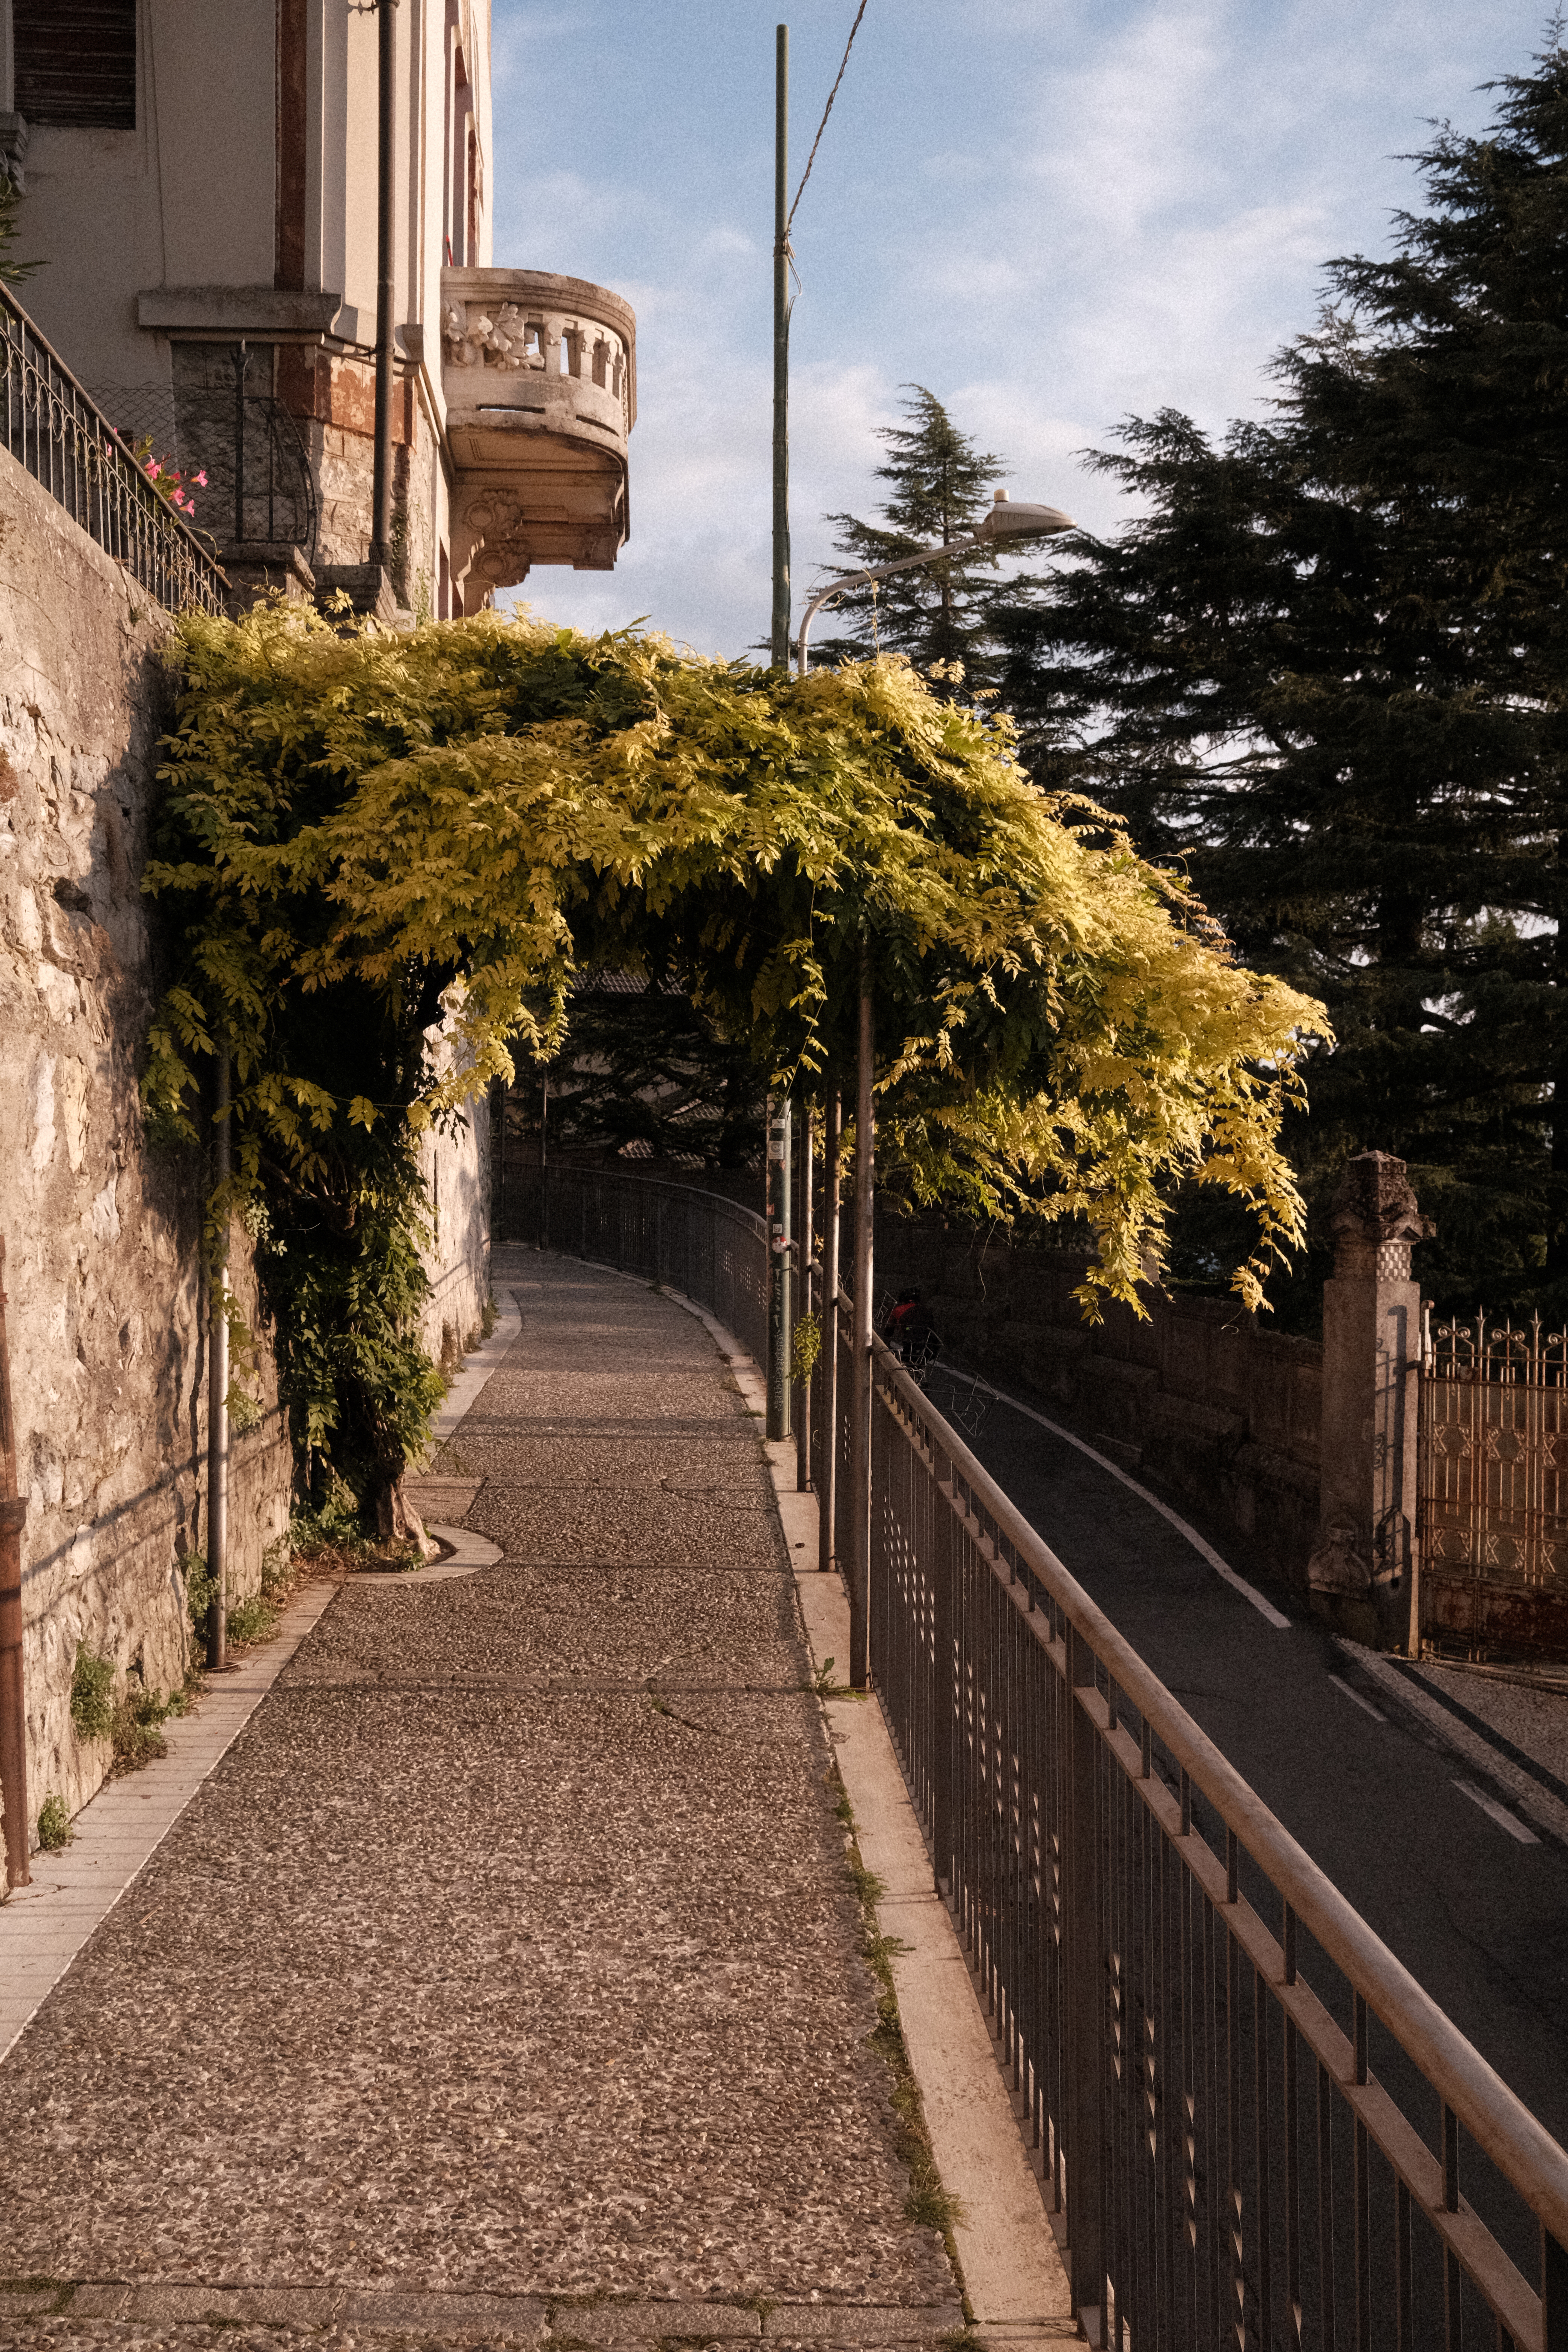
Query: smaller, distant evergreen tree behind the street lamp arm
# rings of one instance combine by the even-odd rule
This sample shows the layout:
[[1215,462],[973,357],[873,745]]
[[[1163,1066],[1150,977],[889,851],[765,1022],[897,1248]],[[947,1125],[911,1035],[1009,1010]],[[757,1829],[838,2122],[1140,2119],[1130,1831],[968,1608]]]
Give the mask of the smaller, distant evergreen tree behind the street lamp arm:
[[[990,485],[1001,480],[1001,461],[976,449],[924,383],[910,383],[903,426],[879,426],[889,461],[877,480],[889,496],[877,508],[882,524],[856,515],[827,515],[837,524],[837,553],[846,572],[893,564],[922,548],[966,539],[990,508]],[[813,647],[823,661],[863,661],[875,647],[907,654],[938,691],[992,684],[992,637],[987,619],[987,572],[997,555],[985,548],[952,564],[900,572],[877,588],[851,588],[823,619],[849,623],[849,635],[823,637]]]

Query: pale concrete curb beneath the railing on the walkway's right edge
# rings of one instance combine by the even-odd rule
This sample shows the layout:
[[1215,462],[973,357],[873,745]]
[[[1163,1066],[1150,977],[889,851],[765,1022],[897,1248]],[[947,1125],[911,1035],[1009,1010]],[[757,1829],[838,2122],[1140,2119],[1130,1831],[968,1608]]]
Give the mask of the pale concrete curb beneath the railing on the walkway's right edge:
[[[642,1287],[651,1289],[646,1282]],[[736,1334],[696,1298],[672,1289],[661,1296],[705,1327],[736,1376],[748,1411],[766,1409],[766,1378]],[[849,1595],[837,1571],[818,1573],[816,1496],[795,1491],[792,1439],[764,1444],[764,1454],[797,1578],[811,1670],[823,1675],[830,1658],[846,1668]],[[860,1698],[830,1698],[823,1700],[823,1712],[856,1816],[860,1860],[886,1889],[877,1903],[879,1924],[905,1945],[889,1959],[893,1992],[936,2169],[964,2209],[954,2241],[971,2324],[992,2352],[1081,2343],[1041,2185],[1023,2145],[969,1959],[936,1891],[931,1856],[882,1708]]]

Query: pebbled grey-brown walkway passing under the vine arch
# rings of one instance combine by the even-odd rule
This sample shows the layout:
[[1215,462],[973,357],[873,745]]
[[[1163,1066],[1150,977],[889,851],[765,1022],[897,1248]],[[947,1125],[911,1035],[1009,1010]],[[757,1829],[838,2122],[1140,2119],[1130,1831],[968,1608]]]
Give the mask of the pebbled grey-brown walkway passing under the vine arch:
[[501,1562],[343,1588],[0,2065],[7,2347],[961,2326],[757,1421],[520,1265],[437,1463]]

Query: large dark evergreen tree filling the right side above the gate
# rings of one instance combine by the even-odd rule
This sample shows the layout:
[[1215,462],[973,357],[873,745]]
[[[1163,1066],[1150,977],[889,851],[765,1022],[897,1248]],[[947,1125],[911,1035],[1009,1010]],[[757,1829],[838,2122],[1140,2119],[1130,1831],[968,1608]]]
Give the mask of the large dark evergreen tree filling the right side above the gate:
[[1366,1145],[1439,1218],[1441,1303],[1568,1305],[1568,52],[1500,89],[1394,256],[1331,266],[1276,419],[1133,421],[1098,463],[1145,515],[992,612],[1039,781],[1328,1002],[1302,1319]]

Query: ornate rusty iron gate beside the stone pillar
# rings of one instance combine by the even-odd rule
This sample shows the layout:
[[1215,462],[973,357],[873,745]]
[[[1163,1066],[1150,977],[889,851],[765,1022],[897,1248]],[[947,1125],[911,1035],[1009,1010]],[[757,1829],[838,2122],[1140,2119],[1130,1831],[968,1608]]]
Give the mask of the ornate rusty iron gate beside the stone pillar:
[[1568,1658],[1568,1331],[1425,1310],[1418,1536],[1434,1646]]

